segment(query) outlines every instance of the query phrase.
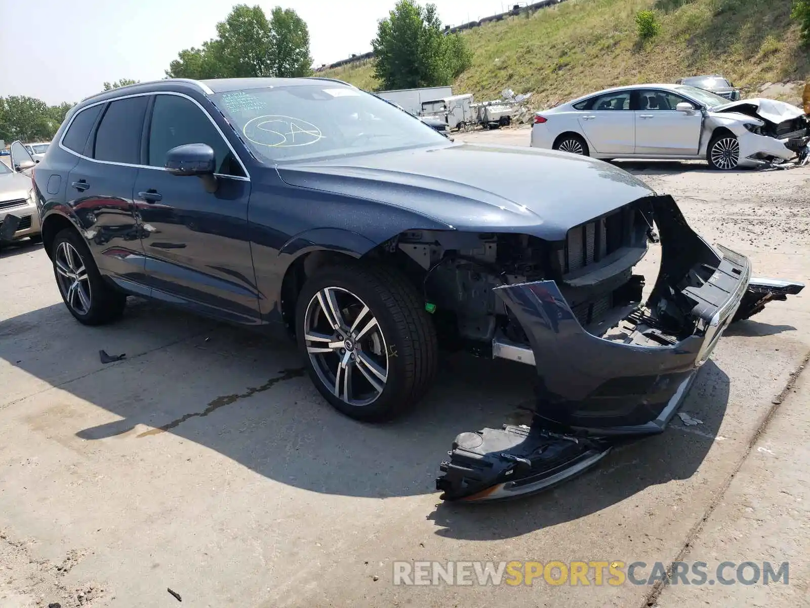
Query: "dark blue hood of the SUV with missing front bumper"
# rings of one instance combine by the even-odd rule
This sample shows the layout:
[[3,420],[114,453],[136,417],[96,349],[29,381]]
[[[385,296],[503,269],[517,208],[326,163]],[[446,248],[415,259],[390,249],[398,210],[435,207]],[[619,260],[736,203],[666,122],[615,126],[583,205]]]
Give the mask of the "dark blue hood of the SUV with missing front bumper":
[[608,163],[517,146],[457,143],[276,169],[292,186],[372,199],[448,227],[547,240],[562,240],[573,226],[654,194]]

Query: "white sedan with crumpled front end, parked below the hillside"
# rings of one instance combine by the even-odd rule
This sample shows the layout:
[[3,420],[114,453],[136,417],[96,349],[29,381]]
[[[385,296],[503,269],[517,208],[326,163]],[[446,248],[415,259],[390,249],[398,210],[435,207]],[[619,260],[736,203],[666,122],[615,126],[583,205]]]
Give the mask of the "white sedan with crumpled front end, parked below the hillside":
[[531,145],[601,159],[706,159],[714,169],[807,161],[810,119],[770,99],[678,84],[611,88],[535,113]]

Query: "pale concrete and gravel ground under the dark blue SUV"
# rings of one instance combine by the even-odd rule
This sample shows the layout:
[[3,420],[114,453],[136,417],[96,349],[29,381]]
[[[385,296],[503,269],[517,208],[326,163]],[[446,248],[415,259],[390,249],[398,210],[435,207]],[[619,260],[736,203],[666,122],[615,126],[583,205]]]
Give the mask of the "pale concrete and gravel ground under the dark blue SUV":
[[[528,131],[461,139],[526,145]],[[698,232],[748,255],[757,274],[810,282],[810,170],[617,164],[676,196]],[[448,358],[410,417],[360,425],[323,403],[290,345],[139,301],[121,323],[83,328],[39,246],[4,250],[0,277],[3,608],[169,606],[168,588],[192,606],[261,608],[808,599],[801,563],[787,587],[686,594],[631,584],[401,587],[391,564],[806,559],[806,543],[779,535],[808,537],[807,456],[790,450],[806,442],[807,384],[790,387],[810,353],[807,294],[727,332],[682,409],[700,425],[676,418],[556,490],[463,508],[438,503],[437,465],[458,432],[518,412],[531,370]],[[102,365],[100,349],[126,359]],[[795,396],[784,405],[786,391]],[[758,447],[774,458],[757,460],[770,456]],[[778,502],[782,492],[795,500]],[[758,520],[773,540],[757,537]]]

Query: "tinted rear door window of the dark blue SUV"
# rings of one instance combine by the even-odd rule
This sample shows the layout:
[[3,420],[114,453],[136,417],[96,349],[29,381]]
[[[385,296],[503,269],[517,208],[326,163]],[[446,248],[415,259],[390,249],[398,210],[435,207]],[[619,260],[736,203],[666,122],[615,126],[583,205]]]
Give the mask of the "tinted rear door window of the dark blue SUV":
[[128,165],[141,164],[141,134],[147,101],[147,96],[129,97],[109,105],[96,131],[93,158]]

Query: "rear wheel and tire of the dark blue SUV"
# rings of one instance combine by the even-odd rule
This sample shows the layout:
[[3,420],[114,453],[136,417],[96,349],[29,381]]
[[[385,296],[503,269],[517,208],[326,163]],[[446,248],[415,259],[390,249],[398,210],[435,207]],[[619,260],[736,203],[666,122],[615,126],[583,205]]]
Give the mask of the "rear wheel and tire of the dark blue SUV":
[[90,250],[75,230],[64,229],[56,235],[52,259],[62,301],[79,323],[102,325],[121,317],[126,295],[104,282]]

